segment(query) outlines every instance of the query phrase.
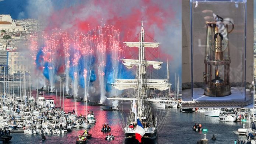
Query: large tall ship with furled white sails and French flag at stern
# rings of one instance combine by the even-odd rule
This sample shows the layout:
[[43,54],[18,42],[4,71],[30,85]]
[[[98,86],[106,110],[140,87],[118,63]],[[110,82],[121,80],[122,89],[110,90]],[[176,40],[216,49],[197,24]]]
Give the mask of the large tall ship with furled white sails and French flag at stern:
[[[128,47],[138,47],[138,60],[121,59],[122,64],[127,68],[137,66],[136,79],[117,79],[115,83],[112,83],[113,87],[118,90],[124,89],[137,89],[136,96],[134,98],[119,98],[111,97],[109,100],[130,100],[133,101],[132,111],[130,111],[129,118],[124,127],[125,141],[138,143],[154,143],[157,138],[157,116],[154,115],[152,101],[169,102],[170,100],[152,99],[147,95],[148,90],[157,89],[160,91],[167,90],[171,84],[167,79],[147,79],[146,67],[153,66],[154,69],[160,69],[163,62],[159,61],[147,61],[145,60],[145,48],[157,48],[160,43],[156,42],[144,42],[145,31],[143,29],[143,22],[141,25],[141,32],[139,33],[139,42],[124,42]],[[136,101],[136,102],[135,102]],[[137,116],[138,114],[138,116]],[[138,129],[145,130],[141,134],[141,140],[136,139]]]

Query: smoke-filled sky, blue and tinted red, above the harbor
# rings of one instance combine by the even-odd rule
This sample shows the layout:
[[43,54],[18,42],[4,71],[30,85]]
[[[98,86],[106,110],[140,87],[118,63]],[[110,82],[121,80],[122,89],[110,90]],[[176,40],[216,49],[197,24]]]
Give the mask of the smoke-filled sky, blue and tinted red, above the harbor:
[[[88,32],[99,25],[114,25],[121,32],[121,47],[140,31],[143,19],[146,35],[161,43],[159,50],[149,50],[164,62],[160,73],[166,74],[168,59],[171,83],[175,73],[181,79],[181,0],[0,0],[0,14],[39,19],[47,25],[46,31]],[[154,60],[150,53],[147,59]]]

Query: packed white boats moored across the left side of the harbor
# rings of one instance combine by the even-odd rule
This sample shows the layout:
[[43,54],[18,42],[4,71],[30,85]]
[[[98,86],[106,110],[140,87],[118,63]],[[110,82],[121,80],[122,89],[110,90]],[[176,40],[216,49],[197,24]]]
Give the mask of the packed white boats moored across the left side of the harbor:
[[[53,97],[39,95],[39,93],[36,99],[33,96],[19,97],[3,94],[0,97],[0,103],[1,132],[3,130],[10,133],[42,134],[42,140],[45,140],[45,134],[64,134],[72,132],[73,128],[84,128],[85,133],[78,136],[77,143],[86,143],[92,136],[87,130],[96,123],[93,111],[88,111],[86,115],[77,115],[75,109],[65,112],[62,108],[56,107]],[[112,107],[105,110],[113,109],[117,110]],[[101,131],[110,132],[110,130],[110,126],[104,123]],[[109,134],[106,140],[114,140],[114,136]],[[9,141],[11,137],[1,133],[0,140]]]

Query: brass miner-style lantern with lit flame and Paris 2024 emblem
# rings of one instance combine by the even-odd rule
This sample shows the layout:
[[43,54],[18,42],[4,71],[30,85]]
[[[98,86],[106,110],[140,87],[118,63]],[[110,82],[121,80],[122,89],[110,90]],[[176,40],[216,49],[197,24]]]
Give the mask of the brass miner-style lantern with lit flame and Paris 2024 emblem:
[[[231,94],[228,35],[234,29],[234,24],[218,15],[214,17],[216,21],[206,22],[204,95],[223,97]],[[228,31],[228,26],[232,26],[230,31]]]

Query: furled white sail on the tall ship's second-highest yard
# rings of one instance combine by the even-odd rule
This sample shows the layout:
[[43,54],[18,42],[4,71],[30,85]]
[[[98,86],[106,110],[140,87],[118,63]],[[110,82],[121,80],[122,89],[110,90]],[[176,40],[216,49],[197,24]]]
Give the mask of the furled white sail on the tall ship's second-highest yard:
[[[127,67],[127,68],[132,68],[134,65],[138,66],[139,65],[139,60],[132,60],[132,59],[123,59],[121,58],[122,63]],[[149,66],[149,65],[153,65],[154,69],[160,69],[161,65],[163,64],[163,62],[161,61],[146,61],[143,60],[142,64]]]

